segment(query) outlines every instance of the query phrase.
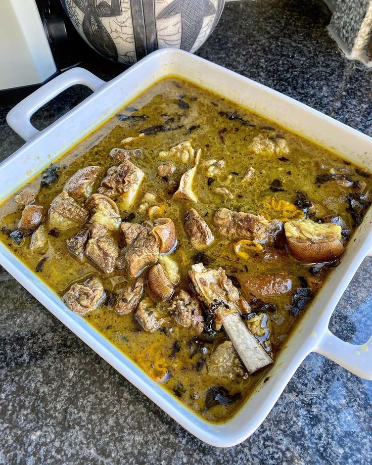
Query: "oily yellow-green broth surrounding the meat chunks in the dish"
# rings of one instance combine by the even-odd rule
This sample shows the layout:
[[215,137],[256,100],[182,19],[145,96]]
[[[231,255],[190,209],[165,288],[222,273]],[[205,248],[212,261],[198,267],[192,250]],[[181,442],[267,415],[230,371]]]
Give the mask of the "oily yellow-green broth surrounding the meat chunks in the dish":
[[[156,125],[155,133],[146,134],[125,146],[121,144],[124,137],[136,137],[145,128]],[[253,138],[259,134],[272,138],[278,135],[284,137],[290,152],[284,157],[254,154],[249,150],[249,146]],[[183,228],[185,212],[193,205],[188,201],[172,199],[168,179],[157,173],[157,167],[163,161],[167,161],[159,159],[159,152],[169,150],[187,140],[191,141],[194,148],[202,149],[201,162],[215,159],[225,163],[220,173],[211,174],[206,168],[198,169],[193,182],[193,191],[199,200],[196,208],[215,236],[214,242],[202,256],[193,250]],[[294,316],[289,311],[296,289],[301,288],[306,280],[316,291],[321,287],[328,269],[323,267],[320,276],[314,276],[310,267],[291,258],[284,249],[249,251],[246,258],[239,257],[232,250],[231,242],[213,228],[214,212],[220,207],[226,207],[230,210],[275,217],[270,204],[279,200],[293,204],[298,196],[297,191],[301,191],[316,205],[319,217],[340,215],[353,229],[349,205],[345,200],[345,194],[350,193],[352,187],[345,187],[337,182],[316,183],[315,178],[324,173],[340,173],[346,170],[353,176],[353,180],[365,181],[368,188],[371,187],[370,178],[366,177],[365,172],[355,172],[355,167],[335,154],[256,114],[189,82],[168,78],[145,91],[117,117],[112,118],[60,158],[56,162],[60,167],[58,180],[49,188],[40,189],[35,203],[48,210],[51,201],[62,191],[69,177],[84,166],[103,167],[102,178],[107,168],[115,164],[109,156],[114,147],[144,151],[142,158],[132,160],[145,172],[141,192],[134,204],[122,212],[122,217],[133,213],[134,222],[148,218],[147,209],[140,208],[143,196],[148,192],[156,196],[156,202],[150,205],[164,205],[162,216],[171,218],[176,226],[178,247],[172,258],[180,269],[179,287],[189,289],[188,271],[192,264],[200,260],[203,260],[207,267],[221,266],[227,275],[238,279],[246,275],[283,271],[291,276],[291,292],[263,298],[264,302],[277,306],[276,311],[271,307],[271,311],[266,312],[267,328],[261,338],[275,360],[301,316]],[[171,177],[179,181],[181,174],[188,167],[177,164],[177,169]],[[256,181],[247,187],[243,177],[251,168],[256,173]],[[29,185],[38,190],[39,183],[40,177],[37,177]],[[220,187],[227,188],[232,195],[226,197],[216,194],[215,189]],[[0,217],[2,225],[6,227],[1,233],[1,240],[30,269],[37,269],[38,276],[59,296],[62,296],[72,283],[81,283],[88,276],[99,276],[109,298],[98,309],[88,313],[86,320],[152,379],[160,380],[165,373],[169,373],[170,378],[163,382],[163,387],[195,412],[209,421],[226,421],[240,408],[257,381],[267,376],[267,369],[252,376],[237,376],[232,380],[208,374],[209,355],[220,342],[227,339],[223,331],[218,332],[214,340],[208,340],[203,334],[199,336],[195,330],[185,329],[176,324],[165,313],[168,321],[164,324],[164,329],[150,334],[138,327],[132,314],[117,315],[112,309],[110,295],[113,296],[130,281],[126,272],[115,269],[111,274],[105,275],[86,257],[82,261],[72,257],[66,251],[66,240],[80,227],[50,231],[48,249],[42,254],[29,252],[29,237],[18,246],[6,232],[16,227],[21,210],[14,202],[14,196],[3,204]],[[119,245],[122,246],[121,233],[115,234]],[[246,297],[249,299],[252,296]],[[206,409],[206,393],[210,386],[224,387],[232,395],[239,392],[242,395],[241,399],[231,405],[215,405]]]

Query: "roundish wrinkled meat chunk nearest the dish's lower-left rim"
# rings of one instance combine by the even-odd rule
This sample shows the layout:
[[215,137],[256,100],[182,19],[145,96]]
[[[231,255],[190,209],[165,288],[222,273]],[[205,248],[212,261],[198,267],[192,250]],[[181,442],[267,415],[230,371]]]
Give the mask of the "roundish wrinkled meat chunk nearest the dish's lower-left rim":
[[73,284],[62,300],[67,307],[78,315],[86,315],[97,308],[106,294],[101,281],[97,277],[89,278],[82,284]]

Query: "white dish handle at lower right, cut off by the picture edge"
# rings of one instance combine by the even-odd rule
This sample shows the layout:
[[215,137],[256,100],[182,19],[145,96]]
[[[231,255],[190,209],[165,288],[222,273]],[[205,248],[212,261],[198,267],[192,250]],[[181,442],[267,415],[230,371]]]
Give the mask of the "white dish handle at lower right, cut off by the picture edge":
[[331,333],[323,334],[314,352],[330,358],[366,380],[372,380],[372,336],[365,344],[349,344]]

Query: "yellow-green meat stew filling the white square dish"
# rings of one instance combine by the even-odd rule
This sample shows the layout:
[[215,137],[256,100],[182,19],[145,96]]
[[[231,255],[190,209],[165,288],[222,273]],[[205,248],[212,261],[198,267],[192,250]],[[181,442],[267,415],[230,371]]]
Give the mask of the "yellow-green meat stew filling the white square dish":
[[0,239],[212,422],[337,266],[370,173],[194,84],[146,90],[0,207]]

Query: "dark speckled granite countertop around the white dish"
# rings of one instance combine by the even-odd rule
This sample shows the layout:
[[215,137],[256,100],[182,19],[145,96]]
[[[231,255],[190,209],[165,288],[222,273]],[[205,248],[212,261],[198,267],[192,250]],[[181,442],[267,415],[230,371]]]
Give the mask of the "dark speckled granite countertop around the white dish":
[[[372,70],[328,36],[321,0],[228,3],[198,55],[372,135]],[[88,55],[103,79],[122,71]],[[88,95],[79,86],[33,118],[45,127]],[[14,102],[15,103],[15,102]],[[22,145],[0,108],[0,159]],[[351,343],[372,333],[372,258],[342,297],[330,329]],[[367,464],[372,382],[309,355],[261,427],[229,449],[208,446],[171,420],[0,271],[0,463]]]

